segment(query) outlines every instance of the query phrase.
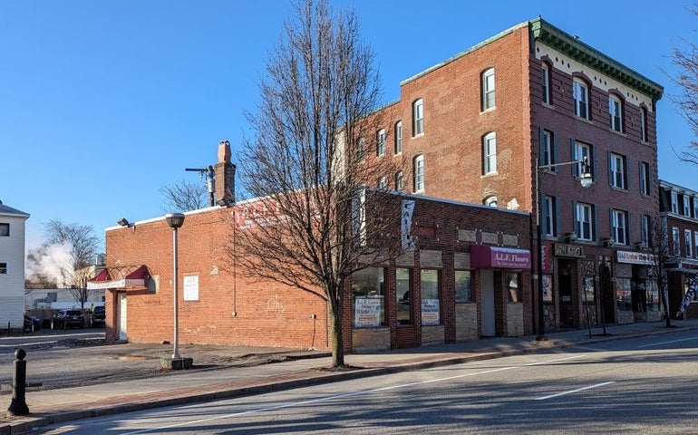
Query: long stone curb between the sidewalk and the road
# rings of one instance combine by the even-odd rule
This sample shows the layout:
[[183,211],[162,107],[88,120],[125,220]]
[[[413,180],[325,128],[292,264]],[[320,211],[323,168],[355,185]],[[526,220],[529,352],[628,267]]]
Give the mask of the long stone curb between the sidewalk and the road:
[[[640,338],[650,335],[660,335],[664,333],[671,333],[674,331],[693,331],[697,330],[698,326],[677,326],[675,328],[663,328],[656,331],[645,331],[642,333],[629,333],[629,334],[617,334],[617,335],[606,335],[606,336],[596,336],[590,337],[582,340],[566,340],[560,339],[553,341],[554,344],[548,346],[537,347],[534,344],[528,345],[528,347],[523,347],[519,349],[509,349],[509,350],[482,350],[478,353],[462,353],[453,354],[450,353],[447,356],[435,357],[428,361],[423,362],[407,362],[404,364],[388,365],[384,367],[373,367],[373,368],[363,368],[360,370],[347,371],[347,372],[310,372],[310,374],[305,373],[304,376],[298,379],[280,381],[280,382],[264,382],[257,385],[252,385],[248,387],[237,387],[226,389],[223,387],[222,390],[218,391],[204,391],[199,393],[192,393],[188,395],[179,395],[177,397],[169,397],[163,399],[155,399],[152,401],[135,401],[132,403],[122,403],[111,405],[109,407],[102,406],[98,408],[93,408],[91,410],[85,411],[62,411],[56,412],[54,414],[40,416],[40,417],[28,417],[26,420],[19,420],[17,422],[11,422],[4,426],[0,426],[0,435],[13,435],[18,433],[24,433],[29,430],[34,430],[42,426],[48,426],[51,424],[61,423],[64,421],[74,421],[74,420],[84,420],[93,417],[102,417],[107,415],[121,414],[131,411],[142,411],[155,408],[161,408],[165,406],[174,406],[182,404],[197,403],[203,401],[213,401],[222,399],[232,399],[240,397],[247,394],[259,394],[270,391],[284,391],[291,390],[294,388],[320,385],[330,382],[340,382],[340,381],[351,381],[355,379],[363,379],[372,376],[379,376],[383,374],[391,374],[397,372],[412,372],[417,370],[429,369],[434,367],[443,367],[447,365],[460,364],[465,362],[475,362],[492,360],[507,356],[522,355],[528,353],[540,353],[550,349],[566,348],[570,346],[577,346],[590,343],[604,343],[612,342],[617,340],[627,340],[633,338]],[[321,355],[324,356],[324,355]],[[215,388],[215,387],[212,387]],[[165,394],[165,393],[163,393]]]

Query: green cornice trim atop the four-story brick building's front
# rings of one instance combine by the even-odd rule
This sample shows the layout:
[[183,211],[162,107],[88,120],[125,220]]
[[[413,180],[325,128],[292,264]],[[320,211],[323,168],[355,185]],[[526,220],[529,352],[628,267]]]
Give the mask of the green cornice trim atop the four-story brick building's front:
[[566,34],[557,27],[542,18],[537,18],[528,22],[531,36],[534,40],[554,48],[560,53],[566,54],[578,63],[587,65],[612,79],[642,92],[656,102],[662,98],[664,88],[646,78],[644,75],[631,70],[622,63],[618,63],[606,56],[606,54],[582,43],[574,36]]

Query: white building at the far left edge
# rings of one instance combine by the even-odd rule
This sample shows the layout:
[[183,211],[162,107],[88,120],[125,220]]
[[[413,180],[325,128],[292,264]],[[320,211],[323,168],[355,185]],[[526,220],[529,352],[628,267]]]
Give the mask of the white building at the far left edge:
[[24,244],[27,213],[0,201],[0,325],[24,327]]

